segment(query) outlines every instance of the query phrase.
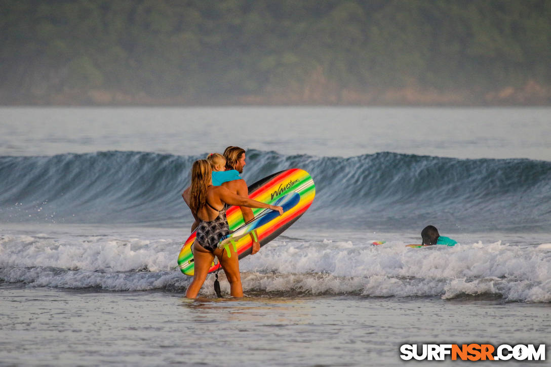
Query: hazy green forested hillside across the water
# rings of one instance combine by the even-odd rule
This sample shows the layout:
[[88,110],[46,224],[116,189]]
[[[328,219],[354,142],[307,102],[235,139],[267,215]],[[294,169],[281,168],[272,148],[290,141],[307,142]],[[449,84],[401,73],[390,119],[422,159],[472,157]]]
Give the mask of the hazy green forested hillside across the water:
[[549,0],[0,0],[0,104],[549,104]]

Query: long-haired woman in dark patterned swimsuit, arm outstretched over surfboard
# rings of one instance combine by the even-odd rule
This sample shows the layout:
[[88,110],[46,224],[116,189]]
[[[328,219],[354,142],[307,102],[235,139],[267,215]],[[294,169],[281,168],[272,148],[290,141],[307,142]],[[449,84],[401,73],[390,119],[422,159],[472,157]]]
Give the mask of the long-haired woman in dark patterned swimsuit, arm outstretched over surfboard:
[[218,242],[230,233],[228,220],[226,220],[226,204],[249,208],[266,208],[283,214],[283,208],[264,204],[249,198],[235,195],[223,186],[212,186],[212,166],[207,160],[199,159],[191,168],[191,187],[188,191],[186,203],[191,209],[193,217],[199,222],[197,226],[196,240],[193,244],[194,274],[193,280],[186,290],[187,298],[196,298],[199,290],[207,278],[208,269],[214,256],[220,261],[226,278],[230,283],[230,294],[234,297],[242,297],[241,275],[239,273],[238,255],[229,246],[229,251],[224,254],[224,249],[218,248]]

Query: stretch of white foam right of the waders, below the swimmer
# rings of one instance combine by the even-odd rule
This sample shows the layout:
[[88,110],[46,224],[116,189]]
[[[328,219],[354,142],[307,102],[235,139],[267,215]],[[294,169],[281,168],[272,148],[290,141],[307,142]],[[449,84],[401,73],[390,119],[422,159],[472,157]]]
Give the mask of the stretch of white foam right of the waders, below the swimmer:
[[268,246],[242,261],[244,271],[258,274],[244,278],[244,284],[250,280],[250,287],[268,292],[551,300],[551,254],[539,247],[501,241],[424,249],[404,245],[341,246],[324,240]]

